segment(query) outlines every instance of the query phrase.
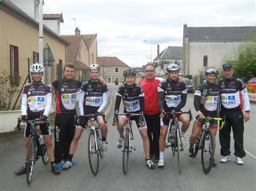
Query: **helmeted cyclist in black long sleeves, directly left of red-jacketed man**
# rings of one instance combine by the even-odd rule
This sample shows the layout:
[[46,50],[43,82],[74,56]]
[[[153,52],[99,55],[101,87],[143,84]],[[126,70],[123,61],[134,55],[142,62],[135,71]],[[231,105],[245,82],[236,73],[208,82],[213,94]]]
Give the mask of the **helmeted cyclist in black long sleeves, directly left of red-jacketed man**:
[[[153,162],[150,160],[150,142],[147,136],[147,126],[145,119],[143,117],[144,105],[144,91],[141,86],[135,83],[136,71],[134,69],[124,70],[125,83],[120,86],[117,90],[116,103],[114,105],[114,111],[119,111],[120,103],[123,98],[124,112],[129,112],[131,114],[140,114],[140,116],[132,116],[131,120],[134,120],[139,129],[140,136],[143,139],[143,146],[145,152],[146,165],[149,168],[154,168]],[[143,118],[143,122],[140,121]],[[124,139],[124,125],[126,124],[126,117],[120,116],[118,122],[115,122],[116,116],[114,115],[114,120],[112,125],[117,125],[117,130],[119,132],[119,138],[117,147],[121,148]]]

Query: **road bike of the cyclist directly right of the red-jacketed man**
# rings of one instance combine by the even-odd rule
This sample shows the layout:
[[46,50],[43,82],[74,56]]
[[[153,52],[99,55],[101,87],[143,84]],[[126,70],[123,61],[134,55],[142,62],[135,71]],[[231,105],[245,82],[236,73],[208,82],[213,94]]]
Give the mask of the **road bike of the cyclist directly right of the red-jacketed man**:
[[192,119],[191,110],[188,111],[171,111],[166,112],[165,115],[167,115],[167,118],[171,118],[172,122],[169,123],[169,133],[167,137],[167,144],[166,148],[171,147],[172,148],[172,154],[173,156],[177,152],[178,156],[178,167],[179,167],[179,173],[181,173],[181,151],[183,151],[183,146],[181,144],[181,138],[180,138],[180,129],[179,129],[179,116],[181,114],[188,114],[190,116],[190,121]]

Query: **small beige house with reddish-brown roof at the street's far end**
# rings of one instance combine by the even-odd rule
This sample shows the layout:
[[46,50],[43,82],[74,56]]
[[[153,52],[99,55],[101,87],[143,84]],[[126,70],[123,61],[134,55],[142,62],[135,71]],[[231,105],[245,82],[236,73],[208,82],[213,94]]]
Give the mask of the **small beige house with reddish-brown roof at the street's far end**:
[[107,84],[122,84],[124,70],[130,68],[116,56],[100,56],[97,58],[97,64],[100,66],[100,77],[103,77]]

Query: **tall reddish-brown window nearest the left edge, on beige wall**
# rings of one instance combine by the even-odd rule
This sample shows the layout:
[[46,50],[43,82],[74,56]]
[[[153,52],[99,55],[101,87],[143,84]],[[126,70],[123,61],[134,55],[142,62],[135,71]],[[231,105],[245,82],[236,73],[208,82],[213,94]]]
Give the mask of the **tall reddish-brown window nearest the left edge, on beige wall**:
[[10,75],[14,77],[15,86],[19,86],[19,54],[18,47],[10,45]]

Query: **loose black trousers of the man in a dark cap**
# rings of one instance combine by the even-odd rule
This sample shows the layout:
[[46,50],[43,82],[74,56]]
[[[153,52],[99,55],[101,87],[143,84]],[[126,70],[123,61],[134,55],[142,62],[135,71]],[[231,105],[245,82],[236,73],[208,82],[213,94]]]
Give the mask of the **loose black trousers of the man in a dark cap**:
[[230,152],[230,133],[231,128],[234,138],[234,155],[236,157],[245,157],[244,151],[244,115],[239,110],[223,110],[220,111],[220,117],[225,116],[225,126],[219,131],[220,138],[220,154],[229,155]]

